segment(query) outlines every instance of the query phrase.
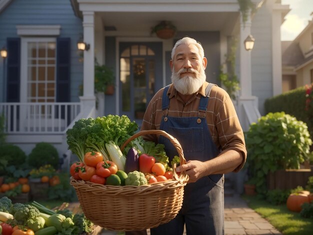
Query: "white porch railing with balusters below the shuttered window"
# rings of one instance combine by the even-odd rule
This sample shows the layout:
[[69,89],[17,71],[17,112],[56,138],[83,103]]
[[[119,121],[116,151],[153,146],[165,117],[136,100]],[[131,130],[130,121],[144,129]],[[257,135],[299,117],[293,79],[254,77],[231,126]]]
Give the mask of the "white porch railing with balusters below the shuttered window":
[[63,133],[80,109],[80,102],[0,103],[8,134]]

